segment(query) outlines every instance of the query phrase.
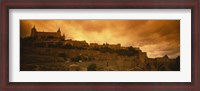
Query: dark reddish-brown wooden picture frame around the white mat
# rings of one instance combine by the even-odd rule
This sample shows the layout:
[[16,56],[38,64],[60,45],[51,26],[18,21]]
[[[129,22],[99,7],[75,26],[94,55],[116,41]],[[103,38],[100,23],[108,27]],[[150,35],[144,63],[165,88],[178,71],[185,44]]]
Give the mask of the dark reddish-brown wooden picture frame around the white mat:
[[[25,1],[1,2],[1,90],[142,90],[200,91],[199,78],[199,0],[111,0],[111,1]],[[191,82],[9,82],[9,9],[191,9],[192,74]],[[165,78],[165,77],[164,77]]]

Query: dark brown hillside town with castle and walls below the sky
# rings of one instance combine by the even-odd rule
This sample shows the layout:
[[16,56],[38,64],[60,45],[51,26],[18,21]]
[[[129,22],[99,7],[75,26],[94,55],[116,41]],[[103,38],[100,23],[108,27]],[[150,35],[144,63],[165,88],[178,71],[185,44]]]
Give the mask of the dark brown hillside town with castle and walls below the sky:
[[21,71],[180,71],[180,57],[148,58],[138,47],[87,43],[57,32],[38,32],[20,39]]

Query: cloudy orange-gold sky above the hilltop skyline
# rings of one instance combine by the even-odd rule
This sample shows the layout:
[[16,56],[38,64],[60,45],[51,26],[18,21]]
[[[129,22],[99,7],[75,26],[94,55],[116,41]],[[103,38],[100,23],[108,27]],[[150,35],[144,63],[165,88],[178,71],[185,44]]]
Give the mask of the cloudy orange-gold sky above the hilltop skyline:
[[180,55],[180,20],[20,20],[20,36],[61,29],[65,39],[139,47],[150,58]]

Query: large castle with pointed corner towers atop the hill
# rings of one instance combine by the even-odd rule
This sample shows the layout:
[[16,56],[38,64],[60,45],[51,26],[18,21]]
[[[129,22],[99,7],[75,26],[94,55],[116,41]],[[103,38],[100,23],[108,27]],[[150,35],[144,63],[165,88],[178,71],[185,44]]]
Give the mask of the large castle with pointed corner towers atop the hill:
[[60,28],[57,32],[38,32],[35,26],[31,29],[31,38],[39,41],[61,41],[65,40],[65,35],[61,35]]

